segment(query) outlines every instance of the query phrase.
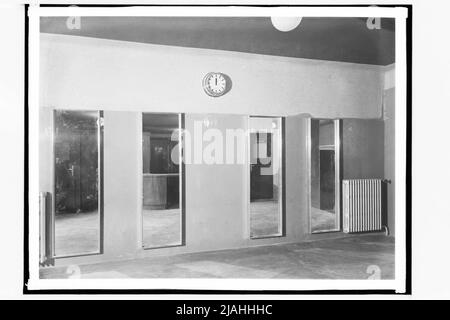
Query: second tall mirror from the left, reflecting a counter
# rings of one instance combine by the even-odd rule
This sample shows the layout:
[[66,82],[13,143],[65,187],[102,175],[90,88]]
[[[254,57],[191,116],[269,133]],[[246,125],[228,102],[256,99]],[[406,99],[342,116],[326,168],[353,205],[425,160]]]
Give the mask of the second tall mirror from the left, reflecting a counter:
[[178,114],[144,113],[143,247],[181,244]]

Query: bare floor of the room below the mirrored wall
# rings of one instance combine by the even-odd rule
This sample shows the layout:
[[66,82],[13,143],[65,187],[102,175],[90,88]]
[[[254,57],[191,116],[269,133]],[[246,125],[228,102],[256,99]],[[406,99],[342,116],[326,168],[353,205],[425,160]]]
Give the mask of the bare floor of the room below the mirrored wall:
[[[78,268],[78,267],[77,267]],[[366,234],[297,244],[222,250],[82,265],[81,278],[381,279],[394,277],[394,238]],[[43,268],[41,278],[67,278],[66,267]]]

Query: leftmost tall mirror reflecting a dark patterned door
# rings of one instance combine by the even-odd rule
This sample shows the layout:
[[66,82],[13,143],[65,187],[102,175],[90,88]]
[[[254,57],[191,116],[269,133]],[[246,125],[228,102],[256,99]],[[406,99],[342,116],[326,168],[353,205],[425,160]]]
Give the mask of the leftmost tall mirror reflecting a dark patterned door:
[[99,112],[55,111],[55,256],[98,253]]

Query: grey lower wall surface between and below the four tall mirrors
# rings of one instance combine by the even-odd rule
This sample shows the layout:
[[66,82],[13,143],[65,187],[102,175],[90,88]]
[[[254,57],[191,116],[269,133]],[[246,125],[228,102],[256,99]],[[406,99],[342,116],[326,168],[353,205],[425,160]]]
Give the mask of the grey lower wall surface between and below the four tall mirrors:
[[[250,240],[247,213],[247,168],[244,164],[186,164],[185,236],[180,247],[141,248],[140,147],[141,114],[104,113],[104,254],[60,258],[56,265],[93,263],[134,257],[150,257],[217,249],[290,243],[308,237],[309,216],[306,139],[307,121],[300,116],[286,119],[285,224],[286,236]],[[186,115],[185,127],[204,115]],[[215,128],[247,129],[247,117],[208,115]],[[237,148],[246,148],[245,142]],[[45,176],[43,176],[45,179]]]

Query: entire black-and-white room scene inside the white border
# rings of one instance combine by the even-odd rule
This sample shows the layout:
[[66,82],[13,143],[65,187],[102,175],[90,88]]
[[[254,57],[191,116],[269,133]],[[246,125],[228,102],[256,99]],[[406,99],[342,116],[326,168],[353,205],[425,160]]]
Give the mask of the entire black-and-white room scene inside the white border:
[[41,278],[394,279],[394,19],[292,19],[40,18]]

